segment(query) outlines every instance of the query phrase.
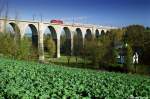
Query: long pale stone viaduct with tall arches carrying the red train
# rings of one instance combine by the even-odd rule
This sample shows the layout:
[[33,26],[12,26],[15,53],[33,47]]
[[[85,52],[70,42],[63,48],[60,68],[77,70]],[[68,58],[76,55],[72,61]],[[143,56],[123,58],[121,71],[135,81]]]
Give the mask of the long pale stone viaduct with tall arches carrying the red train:
[[44,45],[43,38],[46,28],[48,28],[52,33],[52,38],[56,41],[56,57],[60,57],[60,36],[62,30],[68,35],[68,39],[71,42],[71,51],[73,50],[73,36],[75,33],[79,34],[81,38],[86,38],[86,35],[91,35],[97,37],[101,35],[101,31],[109,31],[115,27],[108,26],[96,26],[89,24],[51,24],[50,22],[36,22],[36,21],[24,21],[24,20],[6,20],[0,19],[0,32],[4,31],[5,24],[12,26],[14,32],[19,32],[20,37],[25,35],[25,30],[30,27],[32,35],[37,39],[38,50],[39,50],[39,60],[44,60]]

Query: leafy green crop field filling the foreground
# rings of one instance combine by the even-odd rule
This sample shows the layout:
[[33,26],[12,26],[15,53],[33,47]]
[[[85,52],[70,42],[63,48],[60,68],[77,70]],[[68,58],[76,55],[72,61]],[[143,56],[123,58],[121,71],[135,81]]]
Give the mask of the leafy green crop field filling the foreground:
[[150,77],[0,58],[0,99],[150,98]]

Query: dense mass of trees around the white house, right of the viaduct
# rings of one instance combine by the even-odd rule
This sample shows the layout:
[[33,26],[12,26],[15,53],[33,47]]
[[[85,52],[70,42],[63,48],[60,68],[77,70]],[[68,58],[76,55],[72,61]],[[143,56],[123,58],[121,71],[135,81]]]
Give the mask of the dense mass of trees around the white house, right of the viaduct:
[[[90,60],[92,68],[136,72],[133,55],[138,54],[139,65],[150,65],[149,50],[150,28],[131,25],[107,31],[98,38],[85,40],[84,47],[78,50],[75,55]],[[119,56],[123,57],[122,63],[117,59]]]

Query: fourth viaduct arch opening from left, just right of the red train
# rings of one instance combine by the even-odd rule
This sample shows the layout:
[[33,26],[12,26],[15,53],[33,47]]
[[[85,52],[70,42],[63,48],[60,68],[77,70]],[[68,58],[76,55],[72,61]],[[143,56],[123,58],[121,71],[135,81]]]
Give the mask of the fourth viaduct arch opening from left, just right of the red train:
[[60,52],[65,55],[71,55],[71,31],[68,27],[63,27],[60,42]]

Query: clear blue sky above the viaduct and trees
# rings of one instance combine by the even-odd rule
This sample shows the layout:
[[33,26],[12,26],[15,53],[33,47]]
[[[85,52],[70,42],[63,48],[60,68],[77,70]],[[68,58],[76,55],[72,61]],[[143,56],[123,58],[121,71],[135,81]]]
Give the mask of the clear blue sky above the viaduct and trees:
[[127,26],[150,26],[150,0],[8,0],[9,16],[22,20]]

